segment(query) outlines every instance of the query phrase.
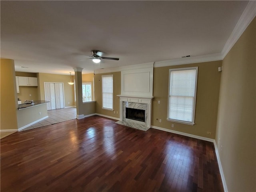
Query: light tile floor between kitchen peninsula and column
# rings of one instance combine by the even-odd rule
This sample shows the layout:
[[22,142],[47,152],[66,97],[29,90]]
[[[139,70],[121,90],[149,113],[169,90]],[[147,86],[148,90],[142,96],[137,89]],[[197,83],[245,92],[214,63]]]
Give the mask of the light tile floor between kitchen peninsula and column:
[[24,128],[20,131],[27,131],[30,129],[43,127],[51,124],[56,124],[68,120],[72,120],[76,118],[76,108],[70,107],[70,108],[63,108],[63,109],[55,109],[55,110],[48,110],[48,118],[39,121],[35,124],[32,124],[29,127]]

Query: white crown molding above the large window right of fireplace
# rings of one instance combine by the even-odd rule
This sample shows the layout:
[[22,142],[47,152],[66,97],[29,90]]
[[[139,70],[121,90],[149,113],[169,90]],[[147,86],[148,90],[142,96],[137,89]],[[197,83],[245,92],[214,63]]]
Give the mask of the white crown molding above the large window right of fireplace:
[[219,61],[222,60],[222,54],[209,54],[203,56],[194,56],[194,57],[186,57],[186,58],[178,58],[166,61],[158,61],[154,63],[154,67],[165,67],[165,66],[174,66],[174,65],[184,65],[190,63],[202,63],[209,61]]

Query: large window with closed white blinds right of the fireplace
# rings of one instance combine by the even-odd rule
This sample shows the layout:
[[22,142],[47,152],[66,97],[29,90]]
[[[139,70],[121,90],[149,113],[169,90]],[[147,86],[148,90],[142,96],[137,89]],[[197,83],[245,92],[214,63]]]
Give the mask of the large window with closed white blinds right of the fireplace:
[[169,70],[167,120],[194,125],[198,67]]

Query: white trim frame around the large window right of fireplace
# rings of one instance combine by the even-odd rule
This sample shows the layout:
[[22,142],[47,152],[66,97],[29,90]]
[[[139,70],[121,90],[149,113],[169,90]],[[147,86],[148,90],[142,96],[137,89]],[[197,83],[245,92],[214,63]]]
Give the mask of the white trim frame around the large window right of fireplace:
[[[195,94],[194,94],[194,108],[193,108],[193,120],[192,122],[179,121],[175,119],[169,119],[169,102],[170,102],[170,75],[172,71],[181,71],[181,70],[196,70],[196,82],[195,82]],[[167,108],[167,120],[171,122],[178,122],[182,124],[194,125],[195,124],[195,114],[196,114],[196,92],[197,92],[197,77],[198,77],[198,67],[187,67],[187,68],[176,68],[169,69],[169,86],[168,86],[168,108]]]

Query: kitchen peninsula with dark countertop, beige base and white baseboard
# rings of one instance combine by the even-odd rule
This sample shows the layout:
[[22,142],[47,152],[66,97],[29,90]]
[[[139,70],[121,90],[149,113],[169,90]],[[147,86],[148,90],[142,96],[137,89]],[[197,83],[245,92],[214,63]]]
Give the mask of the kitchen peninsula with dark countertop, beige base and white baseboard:
[[46,103],[38,100],[32,103],[20,104],[17,109],[18,130],[22,130],[38,121],[48,117]]

